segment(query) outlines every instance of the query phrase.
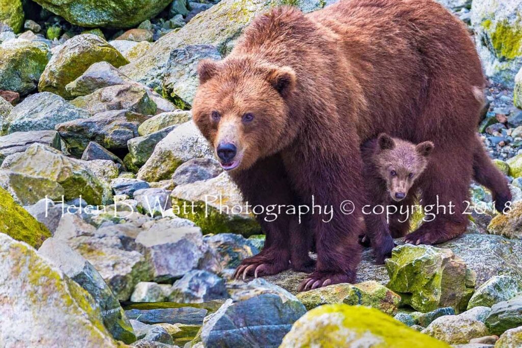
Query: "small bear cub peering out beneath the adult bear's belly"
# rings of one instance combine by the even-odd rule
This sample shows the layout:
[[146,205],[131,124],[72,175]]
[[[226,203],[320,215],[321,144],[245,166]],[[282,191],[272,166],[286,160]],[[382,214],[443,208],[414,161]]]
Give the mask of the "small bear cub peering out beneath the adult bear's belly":
[[[413,204],[416,192],[410,192],[411,187],[428,166],[433,148],[431,141],[415,145],[384,133],[361,146],[363,178],[370,205],[364,214],[366,237],[363,239],[370,239],[377,263],[383,263],[392,253],[393,238],[403,237],[409,230],[408,209],[401,211],[401,207]],[[372,213],[377,206],[383,206],[384,213],[378,209]],[[388,206],[394,212],[389,219]]]

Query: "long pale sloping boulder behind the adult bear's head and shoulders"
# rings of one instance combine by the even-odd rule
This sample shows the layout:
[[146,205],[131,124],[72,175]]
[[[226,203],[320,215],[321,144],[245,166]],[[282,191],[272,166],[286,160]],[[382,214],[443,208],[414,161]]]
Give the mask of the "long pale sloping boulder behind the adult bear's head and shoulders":
[[[305,12],[310,12],[324,7],[332,1],[300,0],[292,2]],[[152,45],[147,53],[122,67],[123,73],[135,81],[144,83],[154,89],[163,89],[163,81],[169,71],[178,71],[179,76],[192,76],[192,62],[197,52],[183,58],[184,48],[189,45],[212,45],[216,47],[221,55],[230,52],[231,47],[243,28],[252,19],[266,12],[269,8],[288,4],[280,0],[223,0],[219,4],[212,6],[206,11],[199,13],[192,18],[187,25],[179,31],[169,33]],[[231,20],[233,18],[233,20]],[[210,51],[205,50],[208,56]],[[217,57],[214,51],[211,57]],[[176,67],[181,61],[185,63],[183,67]],[[185,69],[182,73],[181,69]],[[188,89],[189,90],[189,89]],[[186,91],[188,91],[186,90]],[[179,91],[178,91],[179,92]],[[188,93],[190,94],[190,93]],[[180,99],[178,99],[180,100]]]

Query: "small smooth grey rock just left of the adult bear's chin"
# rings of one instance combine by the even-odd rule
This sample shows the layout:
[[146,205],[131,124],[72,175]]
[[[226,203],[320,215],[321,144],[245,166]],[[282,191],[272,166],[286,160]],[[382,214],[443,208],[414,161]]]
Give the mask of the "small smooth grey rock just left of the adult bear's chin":
[[223,172],[219,162],[212,158],[195,158],[176,168],[172,174],[174,185],[191,184],[218,176]]

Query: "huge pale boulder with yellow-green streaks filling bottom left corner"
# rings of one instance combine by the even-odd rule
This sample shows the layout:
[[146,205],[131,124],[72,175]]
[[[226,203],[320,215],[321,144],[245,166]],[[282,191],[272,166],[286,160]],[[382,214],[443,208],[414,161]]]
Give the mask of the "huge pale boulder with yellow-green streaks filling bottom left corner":
[[0,268],[3,346],[118,346],[89,293],[29,245],[0,234]]

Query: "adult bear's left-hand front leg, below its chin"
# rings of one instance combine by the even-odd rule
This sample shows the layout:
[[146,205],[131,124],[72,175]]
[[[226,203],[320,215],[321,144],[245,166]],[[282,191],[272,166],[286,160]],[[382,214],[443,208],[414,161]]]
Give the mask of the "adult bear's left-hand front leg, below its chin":
[[[256,216],[266,234],[265,247],[253,257],[241,261],[235,270],[235,278],[277,274],[290,267],[290,219],[286,214],[274,216],[266,213],[271,205],[292,205],[294,196],[288,176],[278,155],[263,159],[250,169],[231,172],[233,181],[239,186],[244,200],[252,207],[263,207]],[[276,210],[277,211],[277,210]],[[272,221],[273,220],[273,221]]]

